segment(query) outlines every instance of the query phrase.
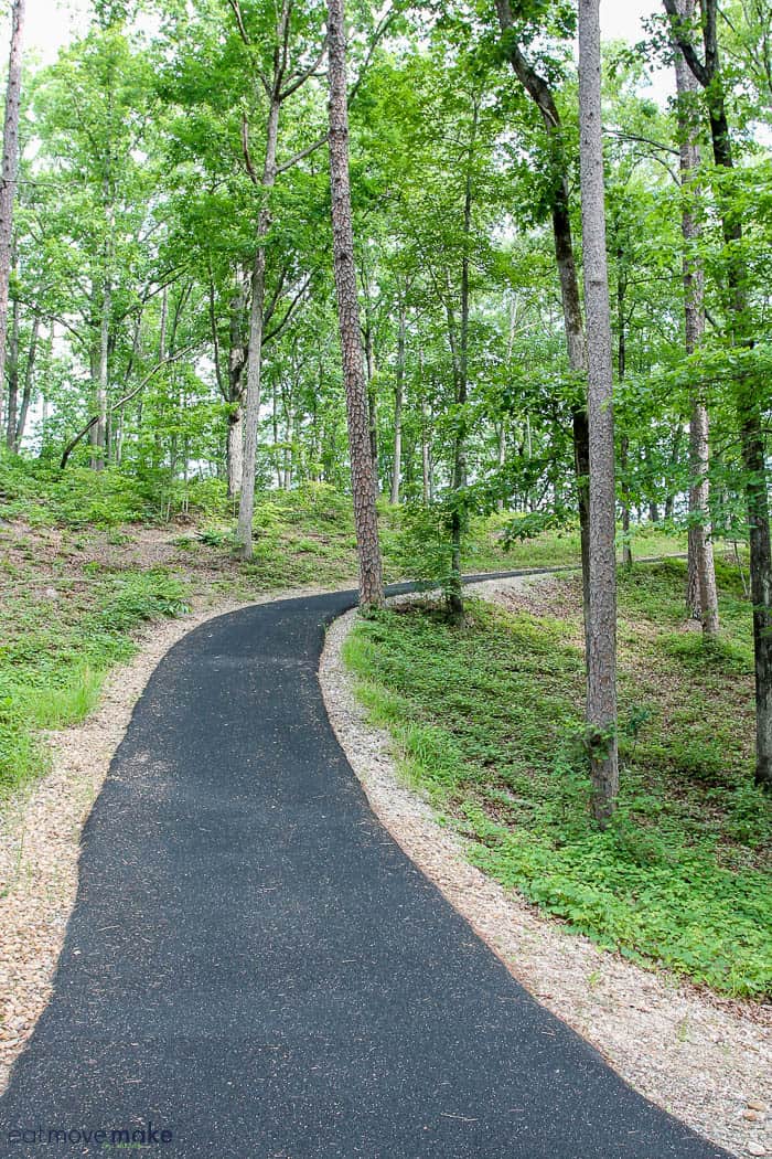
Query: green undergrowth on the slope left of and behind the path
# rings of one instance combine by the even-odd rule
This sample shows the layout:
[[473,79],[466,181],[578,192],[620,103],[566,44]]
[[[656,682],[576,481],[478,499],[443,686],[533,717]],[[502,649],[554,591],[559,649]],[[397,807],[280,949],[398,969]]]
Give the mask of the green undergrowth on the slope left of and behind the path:
[[[36,731],[90,710],[142,621],[215,599],[355,584],[348,496],[324,484],[258,494],[250,562],[234,553],[236,513],[215,479],[60,472],[0,457],[0,799],[45,767]],[[510,519],[475,522],[468,570],[578,562],[575,532],[505,548]],[[402,578],[403,512],[385,502],[381,538],[387,578]],[[663,541],[678,549],[672,537]]]

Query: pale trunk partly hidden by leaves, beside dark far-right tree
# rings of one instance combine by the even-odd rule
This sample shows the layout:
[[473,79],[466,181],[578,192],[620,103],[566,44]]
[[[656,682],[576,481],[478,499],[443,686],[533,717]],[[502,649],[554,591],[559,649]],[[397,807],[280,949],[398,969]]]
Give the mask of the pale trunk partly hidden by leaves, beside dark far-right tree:
[[[681,0],[681,13],[690,22],[694,19],[694,0]],[[684,239],[683,278],[686,353],[693,355],[705,335],[705,272],[696,253],[701,236],[697,199],[697,174],[700,165],[698,125],[691,104],[699,92],[683,53],[676,50],[676,89],[678,93],[678,130],[681,138],[681,183],[684,194],[682,232]],[[686,197],[690,199],[686,201]],[[715,585],[713,540],[708,526],[711,510],[709,421],[700,393],[691,399],[689,421],[691,484],[689,489],[689,567],[686,608],[701,620],[705,636],[719,633],[719,598]]]

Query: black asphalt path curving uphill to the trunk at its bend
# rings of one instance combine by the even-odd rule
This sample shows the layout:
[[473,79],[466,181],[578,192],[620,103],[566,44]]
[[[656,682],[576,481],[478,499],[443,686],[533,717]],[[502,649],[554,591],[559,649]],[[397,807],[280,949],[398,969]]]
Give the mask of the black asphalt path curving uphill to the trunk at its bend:
[[[316,676],[353,603],[225,615],[156,669],[0,1154],[723,1156],[538,1006],[375,819]],[[148,1120],[147,1151],[111,1135]]]

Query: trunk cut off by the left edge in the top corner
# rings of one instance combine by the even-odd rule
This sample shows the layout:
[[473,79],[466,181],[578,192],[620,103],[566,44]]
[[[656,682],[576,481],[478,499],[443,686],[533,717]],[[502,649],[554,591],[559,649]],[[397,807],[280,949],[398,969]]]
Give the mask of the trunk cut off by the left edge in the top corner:
[[22,36],[25,0],[13,0],[10,14],[10,57],[6,89],[6,119],[2,134],[2,173],[0,174],[0,425],[6,379],[6,342],[8,336],[8,287],[10,283],[10,248],[14,227],[14,198],[19,173],[19,115],[22,92]]

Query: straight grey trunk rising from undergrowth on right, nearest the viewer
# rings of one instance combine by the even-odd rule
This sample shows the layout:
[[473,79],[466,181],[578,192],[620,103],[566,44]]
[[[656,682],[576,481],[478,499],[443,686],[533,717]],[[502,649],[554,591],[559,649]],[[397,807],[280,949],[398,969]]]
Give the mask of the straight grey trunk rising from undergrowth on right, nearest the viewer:
[[600,824],[619,789],[617,758],[617,561],[611,314],[605,252],[600,0],[579,0],[579,124],[590,454],[590,590],[587,724]]

